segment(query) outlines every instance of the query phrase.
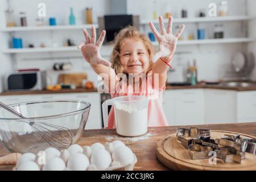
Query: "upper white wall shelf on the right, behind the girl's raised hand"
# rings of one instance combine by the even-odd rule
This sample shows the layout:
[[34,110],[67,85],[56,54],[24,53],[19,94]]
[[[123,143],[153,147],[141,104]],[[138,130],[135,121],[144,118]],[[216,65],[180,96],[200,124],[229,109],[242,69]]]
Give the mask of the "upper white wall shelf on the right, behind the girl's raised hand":
[[[173,23],[200,23],[200,22],[232,22],[242,20],[252,20],[255,16],[219,16],[219,17],[196,17],[196,18],[174,18]],[[141,24],[149,22],[158,24],[158,19],[142,20]],[[163,19],[164,23],[168,23],[168,19]]]

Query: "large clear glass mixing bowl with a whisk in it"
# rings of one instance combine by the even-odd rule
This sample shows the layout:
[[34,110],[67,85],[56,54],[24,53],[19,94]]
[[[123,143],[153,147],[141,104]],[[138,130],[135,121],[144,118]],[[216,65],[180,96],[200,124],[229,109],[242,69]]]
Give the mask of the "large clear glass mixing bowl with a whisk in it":
[[[0,140],[10,152],[32,152],[36,154],[51,145],[42,137],[44,130],[58,132],[61,126],[72,132],[72,143],[76,143],[85,129],[90,111],[90,103],[74,100],[32,101],[9,105],[26,119],[16,117],[14,114],[0,107]],[[36,131],[29,122],[49,123],[42,133]],[[39,125],[41,123],[38,123]],[[59,135],[65,139],[65,135]]]

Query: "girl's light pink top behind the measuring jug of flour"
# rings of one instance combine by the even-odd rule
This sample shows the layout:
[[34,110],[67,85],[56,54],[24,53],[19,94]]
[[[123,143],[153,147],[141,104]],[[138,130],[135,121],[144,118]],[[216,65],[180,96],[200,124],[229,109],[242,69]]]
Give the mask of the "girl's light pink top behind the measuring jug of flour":
[[[134,93],[132,85],[126,86],[126,82],[123,82],[120,88],[126,86],[126,89],[119,90],[118,93],[111,93],[112,98],[119,96],[147,96],[150,97],[148,102],[148,127],[152,126],[168,126],[166,116],[163,111],[163,91],[166,89],[159,89],[158,86],[152,84],[152,76],[147,76],[147,81],[141,85],[141,93]],[[108,127],[106,129],[115,129],[115,116],[114,107],[110,109]]]

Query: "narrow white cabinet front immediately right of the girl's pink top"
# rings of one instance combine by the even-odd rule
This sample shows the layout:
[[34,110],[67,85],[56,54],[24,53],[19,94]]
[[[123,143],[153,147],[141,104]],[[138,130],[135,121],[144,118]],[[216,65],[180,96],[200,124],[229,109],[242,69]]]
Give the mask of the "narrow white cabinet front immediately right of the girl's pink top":
[[163,92],[163,110],[169,126],[175,125],[174,90]]

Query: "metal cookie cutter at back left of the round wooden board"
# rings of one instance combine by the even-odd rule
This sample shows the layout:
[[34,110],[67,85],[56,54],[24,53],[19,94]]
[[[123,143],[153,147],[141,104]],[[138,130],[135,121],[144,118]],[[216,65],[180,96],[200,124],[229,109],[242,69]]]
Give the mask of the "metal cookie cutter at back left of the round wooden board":
[[181,145],[188,149],[189,144],[192,144],[195,139],[210,139],[210,130],[191,128],[177,128],[177,140]]

